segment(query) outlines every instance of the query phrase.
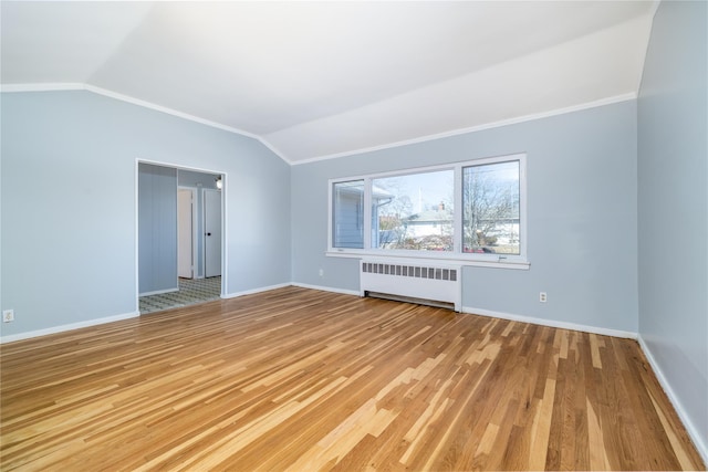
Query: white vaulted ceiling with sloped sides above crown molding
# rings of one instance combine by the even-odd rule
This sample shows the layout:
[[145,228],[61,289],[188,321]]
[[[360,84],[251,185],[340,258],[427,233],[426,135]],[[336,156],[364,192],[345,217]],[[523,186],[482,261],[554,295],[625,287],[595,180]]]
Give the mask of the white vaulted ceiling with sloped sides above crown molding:
[[656,3],[2,1],[1,82],[174,111],[296,164],[636,96]]

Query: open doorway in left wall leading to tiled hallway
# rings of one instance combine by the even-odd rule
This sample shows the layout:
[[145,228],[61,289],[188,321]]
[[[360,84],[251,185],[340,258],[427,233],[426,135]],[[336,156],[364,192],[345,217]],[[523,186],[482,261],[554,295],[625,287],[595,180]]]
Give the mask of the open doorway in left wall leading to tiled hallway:
[[[157,188],[152,174],[160,176]],[[225,180],[219,172],[138,161],[136,290],[140,314],[218,300],[223,294],[226,189],[218,186]],[[150,286],[155,273],[160,273],[162,286]]]

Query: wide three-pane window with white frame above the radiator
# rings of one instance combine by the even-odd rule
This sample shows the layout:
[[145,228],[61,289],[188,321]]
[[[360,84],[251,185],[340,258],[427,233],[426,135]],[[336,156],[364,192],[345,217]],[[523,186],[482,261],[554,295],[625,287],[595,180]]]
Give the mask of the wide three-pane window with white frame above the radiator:
[[330,181],[331,255],[525,261],[525,155]]

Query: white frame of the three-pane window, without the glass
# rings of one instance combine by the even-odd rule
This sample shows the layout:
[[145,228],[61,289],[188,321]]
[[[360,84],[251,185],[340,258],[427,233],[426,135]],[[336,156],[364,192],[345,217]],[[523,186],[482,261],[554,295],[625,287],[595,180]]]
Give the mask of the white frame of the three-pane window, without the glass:
[[[462,169],[465,167],[485,166],[489,164],[500,164],[508,161],[519,161],[519,254],[486,254],[462,252]],[[392,250],[371,247],[372,231],[372,181],[385,177],[402,177],[415,174],[425,174],[440,170],[454,171],[454,244],[452,251],[416,251],[416,250]],[[333,247],[333,188],[335,183],[363,180],[364,181],[364,248],[334,248]],[[525,153],[512,154],[497,157],[486,157],[480,159],[454,162],[440,166],[416,167],[398,171],[371,174],[364,176],[348,176],[327,180],[327,256],[334,258],[405,258],[424,259],[454,262],[464,265],[521,269],[527,270],[531,265],[527,259],[528,250],[528,211],[527,211],[527,155]]]

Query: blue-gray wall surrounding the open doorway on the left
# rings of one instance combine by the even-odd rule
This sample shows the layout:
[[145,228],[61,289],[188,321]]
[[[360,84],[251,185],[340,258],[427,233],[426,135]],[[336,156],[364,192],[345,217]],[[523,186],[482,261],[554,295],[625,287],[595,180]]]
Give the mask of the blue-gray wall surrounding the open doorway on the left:
[[290,167],[258,140],[91,92],[1,113],[3,337],[136,312],[137,159],[227,175],[227,294],[290,282]]

